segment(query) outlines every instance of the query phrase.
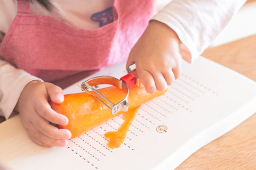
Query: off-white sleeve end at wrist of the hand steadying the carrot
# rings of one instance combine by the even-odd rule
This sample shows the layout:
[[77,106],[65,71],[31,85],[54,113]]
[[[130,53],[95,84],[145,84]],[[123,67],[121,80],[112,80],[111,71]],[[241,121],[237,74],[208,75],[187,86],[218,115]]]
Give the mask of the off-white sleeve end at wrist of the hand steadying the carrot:
[[[0,115],[6,119],[13,113],[21,91],[27,83],[41,80],[27,72],[16,69],[0,57]],[[42,80],[41,80],[42,81]]]

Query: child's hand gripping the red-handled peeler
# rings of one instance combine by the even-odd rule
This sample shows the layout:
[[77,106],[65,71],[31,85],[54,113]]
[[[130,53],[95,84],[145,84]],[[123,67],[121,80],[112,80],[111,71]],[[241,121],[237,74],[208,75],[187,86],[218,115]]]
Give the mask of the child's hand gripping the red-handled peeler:
[[181,73],[180,40],[166,24],[152,20],[132,48],[126,67],[135,63],[147,92],[167,88]]

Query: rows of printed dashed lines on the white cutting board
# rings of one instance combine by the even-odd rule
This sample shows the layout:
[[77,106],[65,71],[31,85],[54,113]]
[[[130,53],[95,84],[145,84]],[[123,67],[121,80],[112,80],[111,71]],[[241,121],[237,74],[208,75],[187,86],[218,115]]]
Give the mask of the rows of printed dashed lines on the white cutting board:
[[[218,96],[217,92],[201,82],[182,74],[169,87],[166,94],[142,104],[121,147],[134,151],[131,141],[136,140],[149,129],[155,129],[156,125],[161,124],[163,120],[178,111],[192,113],[189,103],[206,93]],[[122,115],[116,116],[86,132],[81,137],[69,140],[66,149],[73,152],[77,158],[84,160],[85,165],[90,166],[88,168],[98,169],[97,165],[100,164],[100,161],[115,152],[115,150],[107,148],[108,140],[104,134],[109,131],[116,131],[122,123]]]

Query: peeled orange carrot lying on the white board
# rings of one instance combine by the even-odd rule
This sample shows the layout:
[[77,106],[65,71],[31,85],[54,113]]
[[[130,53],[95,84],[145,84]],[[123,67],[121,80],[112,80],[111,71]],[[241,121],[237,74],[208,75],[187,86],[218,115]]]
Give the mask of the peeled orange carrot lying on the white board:
[[[114,86],[98,89],[98,91],[114,104],[117,104],[125,97],[123,90]],[[157,91],[155,94],[148,94],[144,87],[134,86],[129,89],[129,110],[163,95],[166,91],[167,89]],[[95,128],[95,126],[124,113],[118,112],[112,115],[109,108],[86,92],[65,95],[63,103],[55,104],[50,102],[50,105],[54,111],[67,116],[68,124],[65,126],[59,125],[58,128],[68,129],[72,134],[71,139],[79,137],[83,133]]]

